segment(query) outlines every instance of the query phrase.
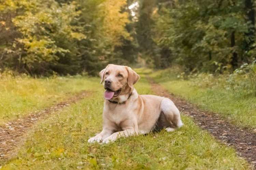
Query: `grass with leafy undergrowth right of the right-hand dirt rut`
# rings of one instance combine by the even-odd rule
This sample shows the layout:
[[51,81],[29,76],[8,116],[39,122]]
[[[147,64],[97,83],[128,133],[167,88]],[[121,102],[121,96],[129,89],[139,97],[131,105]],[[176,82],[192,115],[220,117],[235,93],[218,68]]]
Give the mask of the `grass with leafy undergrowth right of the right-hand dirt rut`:
[[220,75],[190,74],[184,79],[182,70],[171,68],[151,75],[167,90],[202,109],[219,113],[243,128],[256,128],[255,84],[251,83],[247,71]]

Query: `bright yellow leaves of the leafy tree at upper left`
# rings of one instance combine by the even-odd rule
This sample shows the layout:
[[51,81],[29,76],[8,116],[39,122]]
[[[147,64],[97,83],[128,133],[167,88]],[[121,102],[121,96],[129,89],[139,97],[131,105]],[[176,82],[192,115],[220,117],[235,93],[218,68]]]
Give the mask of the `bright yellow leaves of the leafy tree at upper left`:
[[67,41],[86,38],[79,32],[80,27],[71,24],[80,14],[80,11],[76,11],[75,3],[61,6],[55,0],[21,0],[19,3],[27,7],[23,15],[12,21],[23,34],[16,41],[23,44],[27,52],[22,58],[24,63],[55,62],[59,59],[58,55],[70,52],[58,46],[56,39],[60,36],[65,36]]

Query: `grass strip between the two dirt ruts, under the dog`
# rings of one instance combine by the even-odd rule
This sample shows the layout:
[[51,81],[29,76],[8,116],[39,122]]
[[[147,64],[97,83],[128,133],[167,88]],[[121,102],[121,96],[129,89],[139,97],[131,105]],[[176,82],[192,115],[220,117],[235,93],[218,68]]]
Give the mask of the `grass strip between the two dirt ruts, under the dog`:
[[[152,94],[141,77],[136,89]],[[186,116],[185,125],[172,133],[120,138],[107,145],[88,143],[102,129],[104,90],[95,79],[87,80],[95,88],[92,96],[39,122],[18,156],[2,169],[250,169],[233,149],[216,142]]]

